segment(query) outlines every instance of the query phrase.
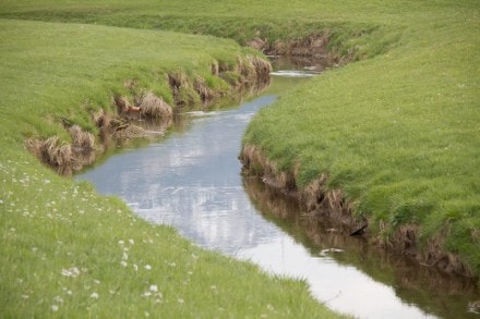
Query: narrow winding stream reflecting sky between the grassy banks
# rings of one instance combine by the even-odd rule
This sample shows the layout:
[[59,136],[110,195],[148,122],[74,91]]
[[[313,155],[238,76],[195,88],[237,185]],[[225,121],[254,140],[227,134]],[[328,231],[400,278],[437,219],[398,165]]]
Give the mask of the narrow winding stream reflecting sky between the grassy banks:
[[238,155],[249,121],[311,72],[275,74],[262,96],[228,110],[184,114],[181,128],[122,149],[76,179],[202,247],[305,279],[332,309],[360,318],[475,318],[469,303],[480,294],[472,282],[328,232],[302,217],[296,203],[242,179]]

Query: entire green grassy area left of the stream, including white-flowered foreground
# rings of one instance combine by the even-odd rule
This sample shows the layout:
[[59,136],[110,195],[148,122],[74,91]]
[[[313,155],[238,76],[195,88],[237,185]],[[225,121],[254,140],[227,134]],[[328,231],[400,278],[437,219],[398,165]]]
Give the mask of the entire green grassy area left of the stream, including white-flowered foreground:
[[206,74],[243,49],[212,37],[7,20],[0,39],[0,317],[335,317],[304,283],[137,220],[23,147],[28,136],[64,134],[62,115],[88,128],[87,110],[108,108],[124,79],[165,93],[164,72]]

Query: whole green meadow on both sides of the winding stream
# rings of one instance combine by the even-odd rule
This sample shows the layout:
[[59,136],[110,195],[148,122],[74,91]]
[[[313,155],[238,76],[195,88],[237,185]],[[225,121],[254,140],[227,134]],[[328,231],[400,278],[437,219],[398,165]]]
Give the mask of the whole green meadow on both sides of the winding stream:
[[168,72],[208,76],[254,37],[327,32],[357,62],[283,96],[244,143],[299,187],[327,173],[383,243],[415,224],[421,247],[434,240],[480,274],[478,1],[1,2],[3,317],[335,316],[304,283],[201,250],[24,148],[68,140],[63,116],[96,132],[89,112],[110,109],[124,81],[171,101]]

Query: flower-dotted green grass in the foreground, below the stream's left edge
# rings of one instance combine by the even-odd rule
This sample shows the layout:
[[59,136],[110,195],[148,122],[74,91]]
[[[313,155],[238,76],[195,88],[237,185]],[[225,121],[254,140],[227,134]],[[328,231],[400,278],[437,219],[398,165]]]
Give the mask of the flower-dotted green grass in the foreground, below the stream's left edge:
[[2,317],[333,316],[303,282],[205,251],[19,150],[0,179]]

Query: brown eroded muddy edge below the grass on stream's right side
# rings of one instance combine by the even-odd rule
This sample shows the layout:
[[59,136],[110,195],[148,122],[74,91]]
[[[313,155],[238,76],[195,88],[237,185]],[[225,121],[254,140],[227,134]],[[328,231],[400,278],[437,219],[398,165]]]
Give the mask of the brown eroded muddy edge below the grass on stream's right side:
[[[343,235],[359,235],[387,250],[408,256],[427,268],[437,268],[442,272],[472,278],[469,267],[460,258],[443,250],[444,236],[439,234],[430,238],[424,248],[417,241],[421,231],[416,224],[403,224],[397,228],[387,223],[373,226],[368,217],[357,216],[356,204],[345,198],[341,189],[326,187],[328,175],[322,174],[304,188],[297,188],[296,175],[298,167],[290,172],[276,169],[275,163],[253,145],[245,145],[240,155],[245,175],[260,176],[262,181],[293,197],[305,213],[316,218]],[[447,230],[445,230],[447,231]],[[384,236],[392,233],[391,236]]]

